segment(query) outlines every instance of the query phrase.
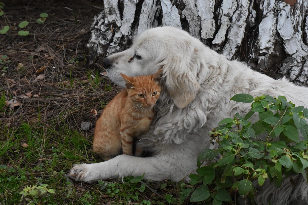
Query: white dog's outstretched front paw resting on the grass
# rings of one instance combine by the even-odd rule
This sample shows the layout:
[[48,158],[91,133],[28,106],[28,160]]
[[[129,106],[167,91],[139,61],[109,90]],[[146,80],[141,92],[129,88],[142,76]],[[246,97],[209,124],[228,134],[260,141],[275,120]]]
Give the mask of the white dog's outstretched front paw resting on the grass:
[[95,181],[90,179],[91,173],[88,166],[89,164],[76,164],[71,168],[68,177],[75,181],[94,183]]

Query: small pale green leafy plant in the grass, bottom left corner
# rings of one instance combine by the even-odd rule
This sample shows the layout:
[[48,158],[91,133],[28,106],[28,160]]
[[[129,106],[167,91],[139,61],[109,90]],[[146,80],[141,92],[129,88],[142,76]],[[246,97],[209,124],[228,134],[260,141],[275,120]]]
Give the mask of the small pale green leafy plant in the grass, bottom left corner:
[[[26,186],[19,194],[22,195],[21,201],[28,201],[28,205],[40,204],[40,201],[45,195],[55,194],[55,190],[47,189],[48,184],[42,184],[40,186]],[[27,198],[30,197],[31,199]]]

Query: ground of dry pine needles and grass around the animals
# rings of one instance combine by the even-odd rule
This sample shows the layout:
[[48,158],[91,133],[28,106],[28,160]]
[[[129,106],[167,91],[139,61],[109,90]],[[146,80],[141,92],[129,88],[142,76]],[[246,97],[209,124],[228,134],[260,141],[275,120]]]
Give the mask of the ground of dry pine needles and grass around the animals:
[[[19,193],[42,183],[55,194],[34,197],[37,204],[167,203],[148,187],[141,192],[141,183],[129,179],[87,185],[66,177],[73,164],[100,161],[91,151],[93,128],[106,103],[120,90],[100,75],[100,65],[95,65],[100,68],[96,70],[87,67],[87,30],[103,3],[4,3],[0,26],[8,25],[10,30],[0,34],[0,57],[8,57],[0,64],[0,204],[28,204],[32,198],[21,200]],[[42,12],[49,16],[38,24]],[[29,25],[23,30],[30,34],[18,36],[22,30],[18,24],[25,20]],[[90,126],[83,130],[82,123],[87,122]],[[176,198],[180,185],[166,185],[147,186]]]

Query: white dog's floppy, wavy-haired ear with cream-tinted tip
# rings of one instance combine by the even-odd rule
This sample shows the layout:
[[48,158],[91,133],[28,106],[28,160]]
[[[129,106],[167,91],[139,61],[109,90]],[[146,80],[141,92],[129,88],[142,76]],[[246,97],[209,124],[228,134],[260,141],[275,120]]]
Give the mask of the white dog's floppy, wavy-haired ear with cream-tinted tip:
[[186,107],[200,89],[197,63],[192,62],[192,58],[186,61],[183,57],[173,56],[163,66],[167,90],[178,108]]

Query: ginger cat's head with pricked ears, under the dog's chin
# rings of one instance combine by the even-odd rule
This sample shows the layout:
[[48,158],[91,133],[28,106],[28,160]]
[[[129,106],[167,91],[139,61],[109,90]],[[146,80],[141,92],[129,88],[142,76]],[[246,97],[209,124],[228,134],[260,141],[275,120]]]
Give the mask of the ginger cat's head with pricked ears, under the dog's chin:
[[125,81],[128,96],[136,104],[141,104],[147,108],[153,108],[160,95],[160,79],[162,75],[160,69],[154,75],[129,77],[122,73],[121,76]]

